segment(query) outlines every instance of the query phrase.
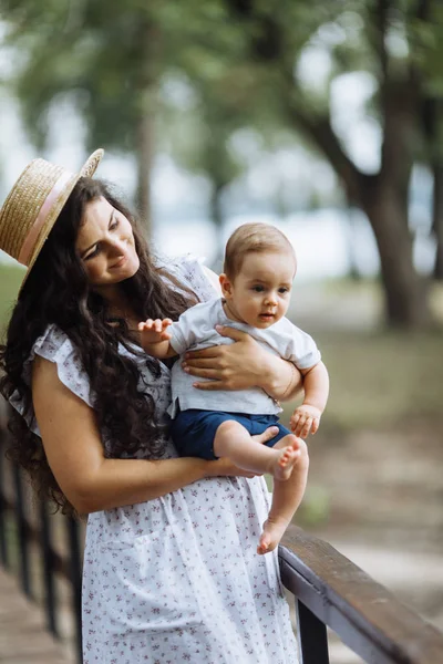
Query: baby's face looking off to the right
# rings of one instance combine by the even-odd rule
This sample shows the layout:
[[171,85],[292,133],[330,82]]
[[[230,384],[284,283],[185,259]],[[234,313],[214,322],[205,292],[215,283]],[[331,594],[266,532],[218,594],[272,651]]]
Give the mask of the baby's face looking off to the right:
[[228,315],[262,330],[277,323],[288,311],[296,269],[289,251],[247,253],[234,280],[222,282]]

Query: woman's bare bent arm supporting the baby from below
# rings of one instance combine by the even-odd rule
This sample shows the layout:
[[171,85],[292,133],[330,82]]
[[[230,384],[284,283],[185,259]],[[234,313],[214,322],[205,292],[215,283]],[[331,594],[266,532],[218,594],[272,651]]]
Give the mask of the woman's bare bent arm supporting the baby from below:
[[60,382],[55,364],[41,357],[33,363],[32,395],[48,463],[79,513],[152,500],[204,477],[254,477],[228,459],[106,459],[93,409]]

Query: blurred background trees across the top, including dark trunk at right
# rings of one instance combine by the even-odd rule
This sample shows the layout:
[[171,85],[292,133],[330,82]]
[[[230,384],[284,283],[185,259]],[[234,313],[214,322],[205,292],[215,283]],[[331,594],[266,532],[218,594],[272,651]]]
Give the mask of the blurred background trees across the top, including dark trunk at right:
[[[262,0],[3,0],[1,8],[18,54],[9,83],[31,139],[44,148],[51,108],[68,98],[90,149],[135,158],[147,230],[157,151],[204,175],[222,228],[224,195],[249,167],[236,137],[248,133],[264,153],[301,144],[329,164],[342,205],[360,208],[371,225],[389,323],[429,322],[431,279],[414,267],[410,194],[414,167],[425,165],[434,181],[433,277],[442,279],[437,0],[282,0],[278,11]],[[322,65],[310,71],[316,59]],[[356,74],[379,146],[371,167],[340,121]]]

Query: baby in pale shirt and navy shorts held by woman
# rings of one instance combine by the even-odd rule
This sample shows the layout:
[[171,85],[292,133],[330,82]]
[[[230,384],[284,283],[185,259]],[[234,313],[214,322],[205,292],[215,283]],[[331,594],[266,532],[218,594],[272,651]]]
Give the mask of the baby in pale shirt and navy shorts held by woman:
[[[144,350],[154,357],[172,357],[234,343],[218,334],[218,325],[247,332],[269,353],[293,362],[303,375],[305,400],[290,426],[298,434],[315,434],[329,381],[313,340],[285,318],[296,270],[296,255],[282,232],[266,224],[240,226],[226,246],[219,277],[223,297],[188,309],[174,323],[171,319],[140,323]],[[261,388],[210,392],[198,391],[193,383],[182,362],[176,362],[168,411],[174,444],[182,456],[227,456],[239,468],[274,476],[272,504],[257,548],[258,553],[267,553],[278,546],[303,497],[305,443],[278,422],[281,407]],[[278,435],[266,445],[253,438],[270,426],[278,427]]]

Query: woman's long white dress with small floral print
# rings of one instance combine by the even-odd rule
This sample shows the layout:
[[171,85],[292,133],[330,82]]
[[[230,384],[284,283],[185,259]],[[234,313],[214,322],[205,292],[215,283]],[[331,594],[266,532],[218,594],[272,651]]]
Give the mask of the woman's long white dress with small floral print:
[[[184,259],[175,271],[202,300],[214,297],[198,261]],[[62,383],[91,405],[87,376],[64,333],[50,326],[30,361],[35,353],[55,362]],[[166,411],[169,371],[162,365],[153,380],[142,359],[141,372]],[[172,447],[167,456],[176,456]],[[90,515],[84,664],[297,664],[277,552],[256,553],[268,509],[262,478],[220,477]]]

